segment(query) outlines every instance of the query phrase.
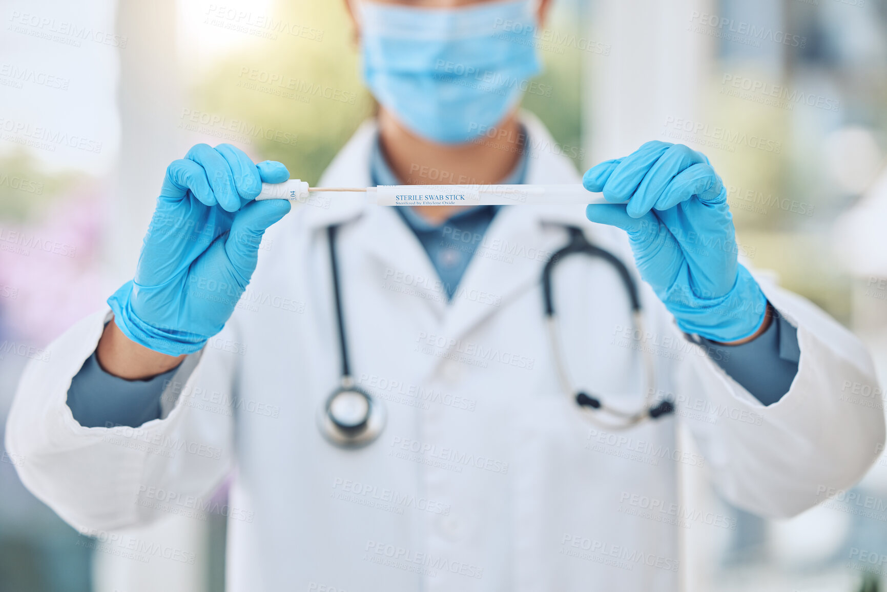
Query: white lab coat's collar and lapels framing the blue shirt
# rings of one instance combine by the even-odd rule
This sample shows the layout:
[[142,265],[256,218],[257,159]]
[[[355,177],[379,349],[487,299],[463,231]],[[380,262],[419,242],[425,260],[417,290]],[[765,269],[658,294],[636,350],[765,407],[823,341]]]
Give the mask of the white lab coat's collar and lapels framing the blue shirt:
[[[522,113],[522,122],[532,142],[527,183],[580,183],[572,162],[557,154],[557,145],[545,126],[528,113]],[[374,122],[361,125],[330,164],[320,185],[369,185],[375,133]],[[437,278],[420,241],[392,208],[367,206],[360,194],[328,195],[328,209],[311,208],[305,212],[307,225],[318,227],[357,220],[353,232],[368,257],[392,270]],[[582,206],[503,207],[484,234],[482,247],[472,257],[451,302],[447,304],[445,296],[440,297],[443,291],[437,294],[433,285],[417,288],[428,293],[420,299],[443,323],[445,335],[463,335],[526,289],[538,286],[547,257],[566,240],[560,226],[587,227],[584,214]]]

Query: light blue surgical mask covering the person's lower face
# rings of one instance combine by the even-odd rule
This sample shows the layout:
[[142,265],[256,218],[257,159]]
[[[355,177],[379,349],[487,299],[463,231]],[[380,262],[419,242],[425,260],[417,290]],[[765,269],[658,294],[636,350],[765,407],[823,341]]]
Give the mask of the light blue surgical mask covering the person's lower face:
[[360,4],[364,79],[417,135],[455,144],[501,122],[541,71],[535,3]]

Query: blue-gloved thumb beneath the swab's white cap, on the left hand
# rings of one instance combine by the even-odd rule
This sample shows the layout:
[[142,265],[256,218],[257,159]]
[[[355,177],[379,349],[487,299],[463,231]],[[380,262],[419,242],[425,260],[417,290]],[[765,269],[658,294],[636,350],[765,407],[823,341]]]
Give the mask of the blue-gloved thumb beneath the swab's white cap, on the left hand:
[[255,270],[265,230],[286,216],[291,207],[288,200],[250,201],[234,217],[224,249],[244,281],[249,281]]

